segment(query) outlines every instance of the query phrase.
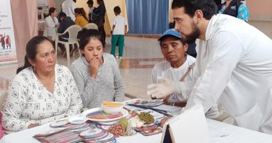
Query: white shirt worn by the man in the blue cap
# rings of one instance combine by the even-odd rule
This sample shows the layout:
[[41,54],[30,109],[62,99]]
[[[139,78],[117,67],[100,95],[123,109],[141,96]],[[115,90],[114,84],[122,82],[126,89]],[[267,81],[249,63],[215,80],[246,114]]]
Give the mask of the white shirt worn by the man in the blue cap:
[[[152,69],[152,82],[159,83],[158,77],[166,77],[169,80],[179,81],[181,77],[187,72],[188,68],[192,63],[195,63],[195,58],[187,55],[186,61],[179,68],[172,68],[171,64],[168,61],[160,61]],[[194,68],[192,68],[194,70]],[[189,98],[191,88],[193,86],[193,73],[190,71],[189,75],[186,76],[184,82],[190,84],[190,88],[182,88],[182,94],[173,93],[172,96],[169,96],[168,103],[181,103],[186,102]]]

